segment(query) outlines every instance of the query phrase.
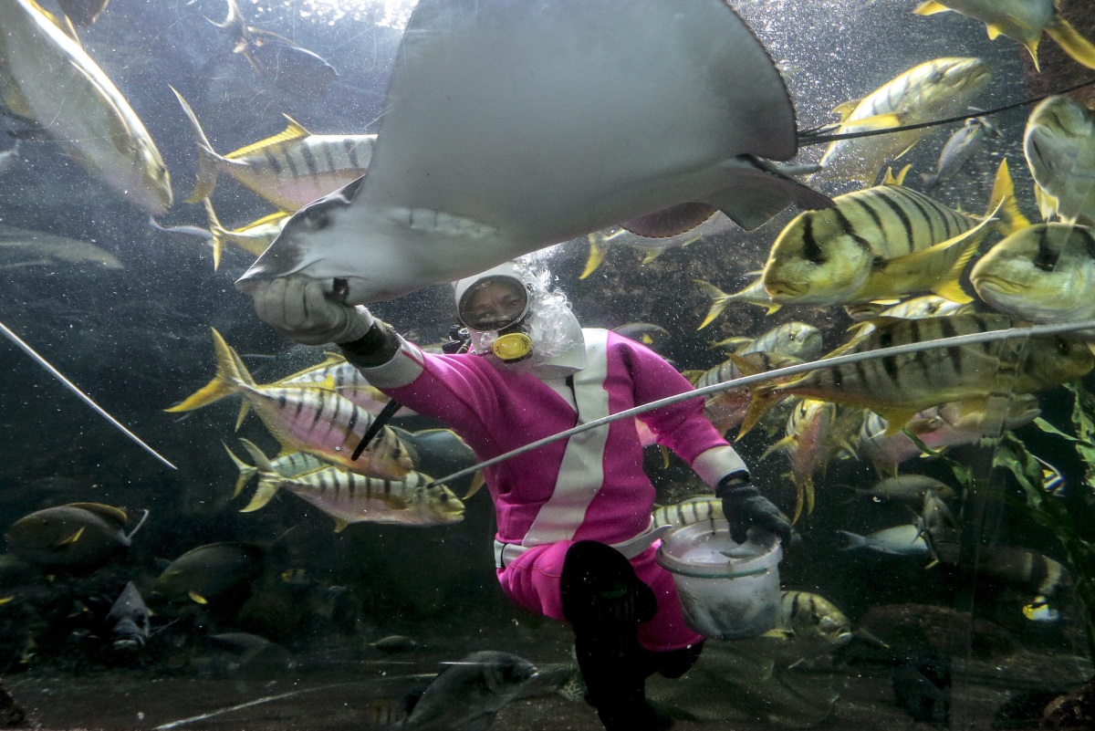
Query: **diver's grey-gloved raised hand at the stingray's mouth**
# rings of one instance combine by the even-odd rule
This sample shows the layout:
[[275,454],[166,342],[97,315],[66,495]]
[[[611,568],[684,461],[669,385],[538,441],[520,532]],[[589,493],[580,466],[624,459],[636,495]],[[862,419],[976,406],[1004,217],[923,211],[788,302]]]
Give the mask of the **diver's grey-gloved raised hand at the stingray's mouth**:
[[351,343],[373,323],[366,308],[351,308],[328,297],[318,279],[283,277],[256,282],[251,295],[260,320],[304,345]]

